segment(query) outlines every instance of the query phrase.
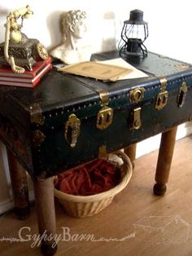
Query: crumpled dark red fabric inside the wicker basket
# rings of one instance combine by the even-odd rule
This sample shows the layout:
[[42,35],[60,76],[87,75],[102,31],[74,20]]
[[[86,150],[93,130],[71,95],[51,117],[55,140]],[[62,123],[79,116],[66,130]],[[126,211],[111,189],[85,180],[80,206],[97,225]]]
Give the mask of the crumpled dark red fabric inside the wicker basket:
[[72,195],[89,196],[105,192],[120,183],[120,169],[104,159],[59,174],[55,188]]

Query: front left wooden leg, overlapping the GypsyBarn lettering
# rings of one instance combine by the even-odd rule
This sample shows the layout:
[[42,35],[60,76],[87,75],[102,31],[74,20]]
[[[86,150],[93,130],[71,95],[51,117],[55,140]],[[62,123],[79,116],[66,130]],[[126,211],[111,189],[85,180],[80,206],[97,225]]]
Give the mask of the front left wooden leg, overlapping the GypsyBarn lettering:
[[39,233],[42,236],[41,252],[47,256],[54,255],[57,251],[57,245],[54,240],[56,224],[53,178],[43,181],[36,179],[34,190]]

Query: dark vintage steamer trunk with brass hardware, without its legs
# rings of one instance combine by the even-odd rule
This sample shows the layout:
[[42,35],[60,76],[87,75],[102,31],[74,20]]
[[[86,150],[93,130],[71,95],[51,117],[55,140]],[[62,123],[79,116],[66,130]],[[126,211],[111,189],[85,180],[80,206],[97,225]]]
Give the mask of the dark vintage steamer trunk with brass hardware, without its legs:
[[45,179],[191,120],[190,64],[149,53],[135,66],[148,77],[99,82],[52,70],[34,89],[1,86],[2,141]]

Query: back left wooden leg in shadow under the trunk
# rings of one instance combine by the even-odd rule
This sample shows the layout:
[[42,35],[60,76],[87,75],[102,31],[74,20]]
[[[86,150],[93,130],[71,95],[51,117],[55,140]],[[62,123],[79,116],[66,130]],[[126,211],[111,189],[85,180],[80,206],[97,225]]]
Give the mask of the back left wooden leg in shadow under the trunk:
[[27,218],[30,213],[28,200],[28,181],[26,170],[7,148],[7,158],[11,176],[11,187],[15,205],[15,214],[20,219]]

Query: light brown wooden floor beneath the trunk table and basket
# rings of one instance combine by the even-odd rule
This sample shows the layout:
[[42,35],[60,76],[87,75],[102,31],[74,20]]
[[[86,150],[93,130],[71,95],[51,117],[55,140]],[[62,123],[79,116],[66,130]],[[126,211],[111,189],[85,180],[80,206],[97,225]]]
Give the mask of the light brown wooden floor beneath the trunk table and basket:
[[[191,135],[177,141],[168,191],[163,197],[152,193],[158,154],[155,151],[135,161],[129,186],[100,214],[72,218],[56,204],[57,234],[61,234],[63,240],[69,240],[59,241],[56,255],[192,255],[191,152]],[[22,227],[21,235],[26,241],[0,241],[1,256],[41,255],[39,248],[32,248],[37,234],[34,207],[27,220],[17,220],[13,213],[3,215],[0,218],[0,240],[3,236],[18,238]],[[119,241],[76,241],[81,234]]]

